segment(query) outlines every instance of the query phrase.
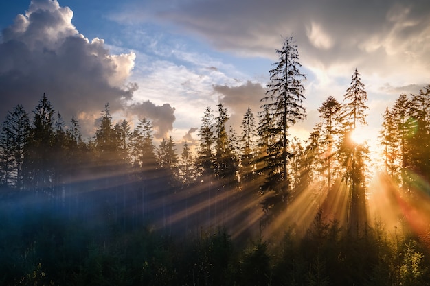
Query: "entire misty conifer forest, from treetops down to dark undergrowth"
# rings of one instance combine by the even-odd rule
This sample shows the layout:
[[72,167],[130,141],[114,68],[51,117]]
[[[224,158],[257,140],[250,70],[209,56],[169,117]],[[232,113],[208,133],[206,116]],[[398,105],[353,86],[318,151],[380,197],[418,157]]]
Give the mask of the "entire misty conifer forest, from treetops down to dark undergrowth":
[[207,106],[181,150],[155,141],[149,118],[113,121],[109,104],[89,139],[45,94],[31,115],[15,106],[0,132],[0,283],[425,285],[430,86],[387,108],[370,189],[357,69],[300,140],[305,75],[292,38],[277,53],[240,133],[223,104]]

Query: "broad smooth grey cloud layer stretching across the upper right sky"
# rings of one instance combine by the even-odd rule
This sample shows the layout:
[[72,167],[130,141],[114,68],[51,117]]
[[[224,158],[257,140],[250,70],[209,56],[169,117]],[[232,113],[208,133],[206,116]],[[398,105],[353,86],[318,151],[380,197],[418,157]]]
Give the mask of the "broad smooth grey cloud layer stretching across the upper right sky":
[[[280,35],[293,35],[304,67],[322,67],[332,77],[348,78],[354,67],[395,77],[402,66],[406,81],[428,78],[422,75],[430,68],[426,1],[190,0],[141,10],[135,4],[134,21],[163,23],[220,51],[275,59]],[[345,63],[348,70],[339,70]]]

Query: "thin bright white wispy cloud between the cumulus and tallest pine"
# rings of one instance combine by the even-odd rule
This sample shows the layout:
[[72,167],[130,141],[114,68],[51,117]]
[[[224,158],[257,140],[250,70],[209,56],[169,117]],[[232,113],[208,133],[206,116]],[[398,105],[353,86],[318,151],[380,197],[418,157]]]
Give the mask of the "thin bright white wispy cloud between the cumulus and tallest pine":
[[229,64],[183,47],[170,47],[167,52],[166,43],[159,42],[151,49],[163,54],[154,58],[142,57],[137,52],[131,79],[139,82],[139,90],[134,93],[131,104],[149,99],[158,105],[168,102],[174,106],[176,120],[170,135],[181,139],[190,127],[200,124],[207,106],[218,103],[213,86],[234,84],[237,80],[231,74],[237,73]]

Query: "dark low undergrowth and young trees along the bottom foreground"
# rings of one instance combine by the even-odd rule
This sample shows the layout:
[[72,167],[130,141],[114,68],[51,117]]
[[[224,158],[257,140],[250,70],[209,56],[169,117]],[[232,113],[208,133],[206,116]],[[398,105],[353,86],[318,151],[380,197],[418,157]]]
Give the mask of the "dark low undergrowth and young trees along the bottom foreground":
[[[5,193],[5,190],[3,190]],[[106,213],[69,217],[12,193],[0,211],[1,285],[428,285],[429,248],[381,225],[351,237],[319,211],[304,237],[232,239],[225,228],[177,237]],[[16,202],[19,201],[19,204]],[[107,211],[107,210],[106,210]],[[126,222],[131,224],[131,222]]]

